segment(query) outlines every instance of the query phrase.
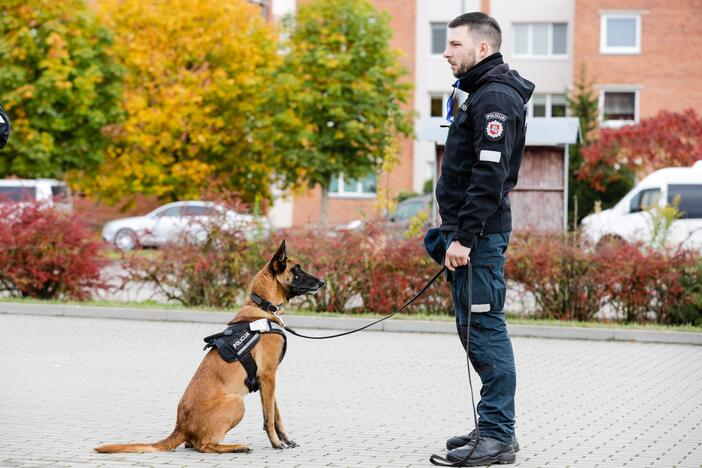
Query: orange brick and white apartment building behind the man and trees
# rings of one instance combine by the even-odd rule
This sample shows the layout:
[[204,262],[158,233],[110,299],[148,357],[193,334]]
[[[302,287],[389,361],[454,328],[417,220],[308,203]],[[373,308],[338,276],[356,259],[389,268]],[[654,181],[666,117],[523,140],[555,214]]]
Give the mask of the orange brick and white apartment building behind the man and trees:
[[[294,5],[294,0],[275,0],[274,11],[276,2],[281,1]],[[702,50],[696,47],[702,44],[702,23],[697,19],[702,17],[700,0],[373,1],[390,13],[392,47],[402,51],[407,79],[415,85],[410,107],[417,115],[418,138],[402,142],[398,164],[389,174],[378,175],[375,184],[337,184],[336,192],[330,193],[330,223],[348,222],[376,212],[377,193],[381,190],[387,190],[390,196],[403,190],[419,192],[427,180],[435,178],[436,140],[422,139],[421,134],[431,119],[445,114],[454,78],[441,52],[448,22],[463,12],[481,10],[500,23],[505,61],[536,84],[528,103],[530,119],[568,116],[566,96],[578,79],[582,64],[599,95],[604,126],[635,123],[661,110],[692,107],[702,114]],[[548,121],[539,126],[549,128]],[[543,148],[538,152],[545,154]],[[562,154],[561,149],[550,154],[550,159],[546,159],[558,167],[544,166],[545,156],[540,156],[539,163],[525,157],[521,180],[534,182],[539,172],[559,174],[568,170],[562,158],[555,156]],[[559,191],[558,197],[565,198],[565,180],[560,178],[560,186],[547,184],[550,200],[555,200]],[[517,187],[521,188],[527,187]],[[317,188],[287,201],[281,199],[272,218],[281,227],[316,223],[320,205],[321,190]],[[519,215],[515,217],[518,218]],[[562,224],[555,219],[549,223]]]

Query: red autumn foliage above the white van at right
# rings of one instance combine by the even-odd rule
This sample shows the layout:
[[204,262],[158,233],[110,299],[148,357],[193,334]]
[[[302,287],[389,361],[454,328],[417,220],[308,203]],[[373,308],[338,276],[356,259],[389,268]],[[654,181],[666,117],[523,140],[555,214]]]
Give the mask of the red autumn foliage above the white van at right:
[[702,119],[692,109],[661,111],[636,125],[602,128],[582,157],[578,178],[600,192],[621,177],[620,167],[645,176],[663,167],[691,166],[702,159]]

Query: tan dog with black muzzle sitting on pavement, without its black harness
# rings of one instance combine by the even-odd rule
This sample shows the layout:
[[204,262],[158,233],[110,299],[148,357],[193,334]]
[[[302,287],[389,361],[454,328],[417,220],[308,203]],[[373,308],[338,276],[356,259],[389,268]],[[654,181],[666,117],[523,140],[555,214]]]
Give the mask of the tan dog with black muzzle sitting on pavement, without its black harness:
[[[323,286],[324,281],[306,273],[287,257],[283,241],[273,258],[256,274],[248,292],[277,305],[295,296],[314,294]],[[277,316],[260,309],[247,294],[246,302],[229,324],[259,319],[269,319],[283,326]],[[282,336],[266,333],[251,351],[258,367],[263,427],[276,449],[297,447],[283,428],[275,398],[275,374],[283,343]],[[249,393],[245,378],[241,362],[226,362],[213,348],[203,358],[180,399],[171,435],[153,444],[103,445],[95,450],[100,453],[169,452],[185,443],[188,448],[207,453],[250,452],[247,445],[220,444],[244,416],[243,397]]]

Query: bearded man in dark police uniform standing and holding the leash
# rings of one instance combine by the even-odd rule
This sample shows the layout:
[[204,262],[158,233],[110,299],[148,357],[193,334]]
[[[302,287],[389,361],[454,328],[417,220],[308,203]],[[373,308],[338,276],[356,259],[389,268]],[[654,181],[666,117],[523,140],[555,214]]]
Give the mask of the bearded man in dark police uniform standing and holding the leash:
[[[534,85],[510,70],[499,53],[502,33],[483,13],[449,23],[444,58],[469,93],[449,128],[436,199],[441,227],[427,233],[430,255],[449,272],[456,325],[482,381],[478,403],[480,443],[466,466],[513,463],[516,371],[505,323],[505,251],[512,230],[509,192],[517,183],[526,133],[525,104]],[[451,116],[448,116],[451,121]],[[472,315],[468,327],[468,262],[472,264]],[[468,331],[470,330],[470,331]],[[473,432],[451,437],[447,458],[464,459]]]

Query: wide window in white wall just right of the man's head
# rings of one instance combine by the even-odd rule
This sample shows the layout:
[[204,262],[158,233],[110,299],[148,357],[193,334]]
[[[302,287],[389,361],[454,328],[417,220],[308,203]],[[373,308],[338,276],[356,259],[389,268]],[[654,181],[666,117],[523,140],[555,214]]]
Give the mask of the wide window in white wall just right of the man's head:
[[514,23],[512,28],[515,57],[567,57],[568,23]]

